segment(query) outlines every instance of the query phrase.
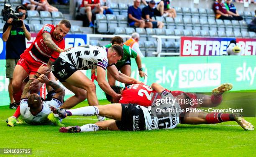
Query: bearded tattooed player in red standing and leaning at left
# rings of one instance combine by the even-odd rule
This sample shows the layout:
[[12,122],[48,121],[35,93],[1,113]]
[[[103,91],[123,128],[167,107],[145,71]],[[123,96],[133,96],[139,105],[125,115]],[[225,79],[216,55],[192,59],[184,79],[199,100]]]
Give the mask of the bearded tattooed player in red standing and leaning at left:
[[[20,55],[20,60],[13,72],[13,98],[19,104],[22,94],[22,82],[29,75],[32,78],[42,63],[51,66],[51,63],[65,50],[64,37],[71,28],[69,21],[61,20],[58,25],[44,25],[36,36],[36,40]],[[53,76],[53,75],[52,75]],[[38,86],[39,90],[40,85]]]

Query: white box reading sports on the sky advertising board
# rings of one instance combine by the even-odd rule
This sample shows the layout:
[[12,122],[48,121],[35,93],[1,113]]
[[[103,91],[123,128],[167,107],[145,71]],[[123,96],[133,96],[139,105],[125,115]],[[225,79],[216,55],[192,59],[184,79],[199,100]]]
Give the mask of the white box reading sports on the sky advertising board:
[[220,63],[180,64],[179,88],[218,86],[220,74]]

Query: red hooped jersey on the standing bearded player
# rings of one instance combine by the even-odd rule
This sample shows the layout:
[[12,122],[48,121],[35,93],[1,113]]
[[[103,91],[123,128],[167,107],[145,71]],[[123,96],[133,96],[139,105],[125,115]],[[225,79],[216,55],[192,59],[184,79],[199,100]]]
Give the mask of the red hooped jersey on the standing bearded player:
[[51,61],[55,61],[56,58],[59,57],[59,53],[52,50],[46,44],[44,43],[43,33],[49,33],[51,34],[51,39],[54,41],[54,43],[59,46],[59,48],[64,49],[65,48],[65,41],[64,38],[61,38],[59,41],[56,41],[54,39],[54,29],[55,26],[51,24],[44,25],[44,27],[39,31],[39,33],[36,35],[36,40],[33,41],[31,46],[27,48],[24,53],[20,55],[20,57],[26,58],[26,55],[31,56],[35,61],[47,64],[49,59]]

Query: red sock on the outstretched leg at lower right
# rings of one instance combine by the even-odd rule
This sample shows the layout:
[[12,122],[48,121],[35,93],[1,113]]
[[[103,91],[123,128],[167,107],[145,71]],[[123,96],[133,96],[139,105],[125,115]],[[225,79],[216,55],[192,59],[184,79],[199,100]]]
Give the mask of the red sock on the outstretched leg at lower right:
[[222,122],[227,122],[227,121],[234,121],[235,116],[234,116],[234,114],[212,112],[212,113],[207,114],[205,119],[208,122],[208,124],[216,124],[216,123],[222,123]]

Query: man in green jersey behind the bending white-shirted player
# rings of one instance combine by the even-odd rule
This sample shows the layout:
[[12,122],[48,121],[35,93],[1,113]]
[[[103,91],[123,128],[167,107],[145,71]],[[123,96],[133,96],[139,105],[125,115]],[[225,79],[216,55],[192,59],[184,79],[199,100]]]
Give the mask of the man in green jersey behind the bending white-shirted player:
[[[106,45],[105,47],[109,48],[113,44],[118,44],[123,47],[123,57],[122,59],[120,59],[120,61],[118,61],[115,64],[118,71],[121,71],[121,73],[127,76],[131,76],[131,58],[134,58],[138,66],[139,75],[141,77],[145,77],[146,74],[143,72],[143,68],[141,65],[141,57],[138,55],[138,53],[133,51],[130,46],[124,45],[123,38],[121,38],[120,36],[115,36],[114,38],[112,38],[111,43]],[[110,84],[110,86],[114,86],[115,79],[113,78],[113,76],[110,74],[109,71],[107,71],[107,76],[108,76],[108,83]]]

